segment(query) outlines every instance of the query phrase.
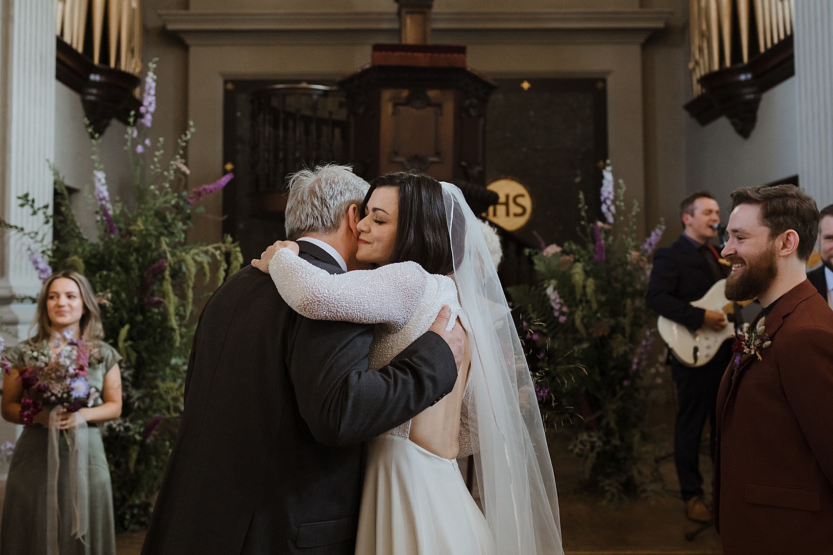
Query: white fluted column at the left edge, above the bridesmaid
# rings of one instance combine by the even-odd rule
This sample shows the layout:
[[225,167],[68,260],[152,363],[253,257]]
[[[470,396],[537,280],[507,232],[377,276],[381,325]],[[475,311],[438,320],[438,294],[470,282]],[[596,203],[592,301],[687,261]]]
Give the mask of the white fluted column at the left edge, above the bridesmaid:
[[[19,208],[17,197],[28,193],[37,205],[48,204],[51,210],[48,164],[55,153],[55,0],[2,0],[2,12],[7,16],[0,24],[0,42],[7,46],[0,67],[2,217],[22,228],[40,229],[42,220]],[[51,229],[43,231],[52,241]],[[17,320],[17,337],[24,338],[34,307],[14,303],[13,298],[37,296],[41,283],[19,236],[6,233],[2,247],[2,319],[3,323]]]

